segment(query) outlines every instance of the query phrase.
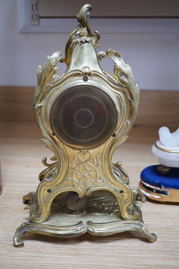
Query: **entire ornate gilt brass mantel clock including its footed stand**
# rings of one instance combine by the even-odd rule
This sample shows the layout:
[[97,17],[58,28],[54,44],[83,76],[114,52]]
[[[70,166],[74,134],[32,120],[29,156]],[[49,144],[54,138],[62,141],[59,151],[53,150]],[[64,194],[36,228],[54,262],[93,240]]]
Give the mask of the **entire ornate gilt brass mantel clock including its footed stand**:
[[[156,241],[136,202],[138,197],[145,201],[144,195],[130,189],[122,163],[112,163],[135,121],[139,86],[117,52],[96,52],[100,33],[88,25],[89,10],[86,4],[79,11],[80,24],[68,37],[65,57],[56,51],[37,70],[34,115],[54,162],[43,158],[47,168],[37,191],[23,198],[30,203],[30,219],[16,230],[16,247],[30,233],[70,238],[133,230]],[[115,63],[114,75],[99,65],[107,56]],[[67,65],[62,75],[56,74],[57,62]]]

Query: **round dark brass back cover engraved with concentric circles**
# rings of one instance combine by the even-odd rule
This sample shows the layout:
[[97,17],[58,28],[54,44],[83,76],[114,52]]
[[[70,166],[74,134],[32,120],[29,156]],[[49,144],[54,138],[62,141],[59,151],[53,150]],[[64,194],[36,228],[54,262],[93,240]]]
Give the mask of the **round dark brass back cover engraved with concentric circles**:
[[90,85],[74,86],[55,100],[51,110],[55,135],[76,148],[90,148],[112,135],[116,111],[111,98]]

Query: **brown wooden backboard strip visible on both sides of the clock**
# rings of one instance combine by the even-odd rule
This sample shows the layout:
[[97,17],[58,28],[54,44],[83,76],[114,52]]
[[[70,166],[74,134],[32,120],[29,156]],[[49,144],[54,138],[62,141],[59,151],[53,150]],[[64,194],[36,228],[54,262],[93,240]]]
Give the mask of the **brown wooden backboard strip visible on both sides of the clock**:
[[[0,120],[34,122],[34,87],[0,86]],[[179,91],[140,93],[135,126],[177,128],[179,126]]]

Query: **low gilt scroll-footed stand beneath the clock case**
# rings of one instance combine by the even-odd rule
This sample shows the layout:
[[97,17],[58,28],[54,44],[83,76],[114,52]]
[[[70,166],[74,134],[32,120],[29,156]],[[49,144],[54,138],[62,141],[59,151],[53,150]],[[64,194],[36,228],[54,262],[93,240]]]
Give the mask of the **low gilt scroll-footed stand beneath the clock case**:
[[[136,198],[145,201],[143,194],[132,189],[134,201]],[[77,211],[70,210],[66,205],[68,193],[57,196],[52,205],[47,220],[43,223],[33,223],[30,220],[21,224],[14,235],[14,246],[23,247],[24,242],[19,241],[21,237],[28,234],[42,234],[59,238],[73,238],[90,233],[94,236],[108,236],[125,231],[140,232],[150,242],[155,242],[157,236],[149,233],[147,226],[143,223],[141,204],[137,205],[139,217],[137,220],[124,220],[121,216],[118,201],[109,191],[96,191],[90,197],[87,206]],[[24,202],[30,205],[36,204],[36,192],[24,196]],[[138,200],[139,201],[139,200]],[[132,207],[131,207],[132,210]]]

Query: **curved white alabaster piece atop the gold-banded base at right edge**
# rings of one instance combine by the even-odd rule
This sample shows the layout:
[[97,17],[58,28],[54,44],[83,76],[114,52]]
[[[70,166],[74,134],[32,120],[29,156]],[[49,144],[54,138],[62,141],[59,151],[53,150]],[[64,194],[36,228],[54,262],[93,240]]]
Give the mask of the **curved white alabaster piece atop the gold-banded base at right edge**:
[[161,127],[158,131],[158,134],[160,141],[164,146],[172,147],[179,145],[179,128],[175,132],[170,133],[168,127]]

